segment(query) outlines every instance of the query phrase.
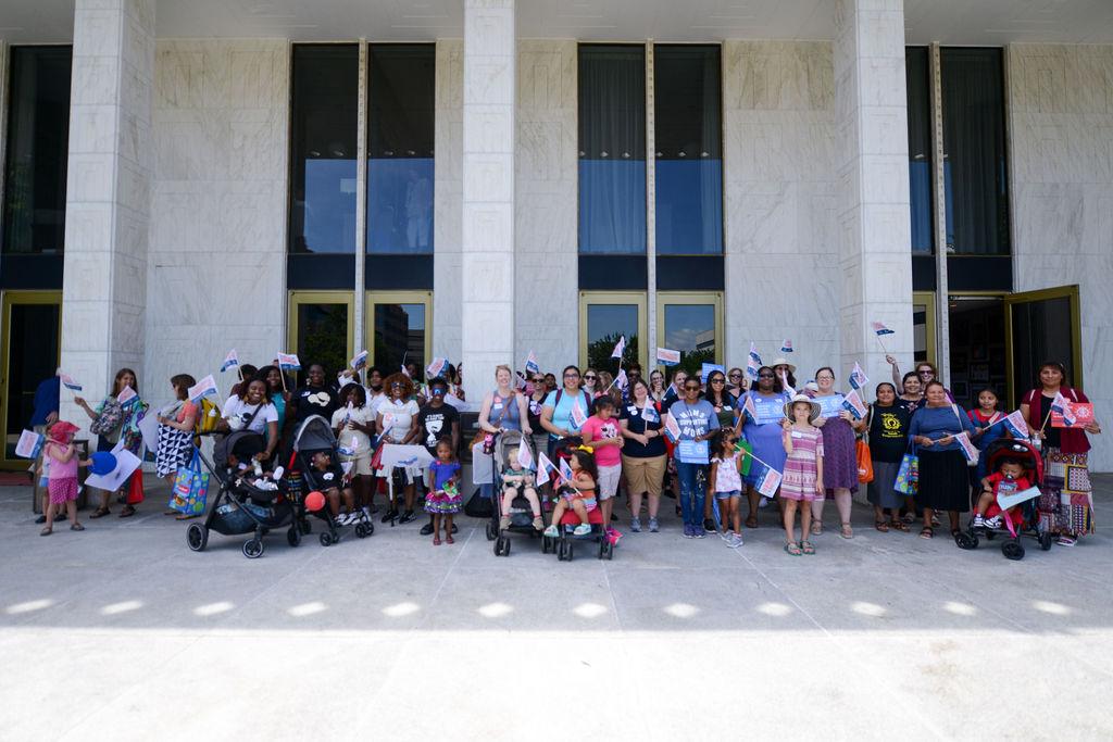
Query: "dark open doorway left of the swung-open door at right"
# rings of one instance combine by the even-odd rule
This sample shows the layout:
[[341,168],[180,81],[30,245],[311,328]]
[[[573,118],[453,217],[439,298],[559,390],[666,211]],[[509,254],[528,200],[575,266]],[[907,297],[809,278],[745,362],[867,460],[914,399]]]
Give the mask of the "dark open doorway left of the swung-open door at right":
[[1007,402],[1008,356],[1005,303],[1001,296],[949,296],[951,392],[967,409],[977,406],[978,392],[992,388],[1004,409]]

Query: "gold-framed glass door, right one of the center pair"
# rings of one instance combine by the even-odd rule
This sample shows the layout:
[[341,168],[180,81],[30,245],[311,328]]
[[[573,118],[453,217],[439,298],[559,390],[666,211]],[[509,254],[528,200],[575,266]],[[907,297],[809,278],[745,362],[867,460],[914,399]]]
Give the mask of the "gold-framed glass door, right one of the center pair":
[[657,344],[679,350],[680,368],[689,375],[699,375],[703,364],[723,363],[722,294],[659,291]]

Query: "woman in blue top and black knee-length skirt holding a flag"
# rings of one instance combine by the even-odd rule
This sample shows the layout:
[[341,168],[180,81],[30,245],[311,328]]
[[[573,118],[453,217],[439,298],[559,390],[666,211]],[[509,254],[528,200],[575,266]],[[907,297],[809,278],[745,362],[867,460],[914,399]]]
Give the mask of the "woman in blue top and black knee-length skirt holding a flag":
[[947,398],[943,384],[930,382],[925,389],[926,404],[912,416],[908,438],[918,446],[919,487],[916,504],[924,508],[922,538],[935,535],[932,515],[947,511],[951,534],[958,532],[958,514],[971,507],[969,475],[966,462],[976,451],[969,441],[975,432],[971,418]]

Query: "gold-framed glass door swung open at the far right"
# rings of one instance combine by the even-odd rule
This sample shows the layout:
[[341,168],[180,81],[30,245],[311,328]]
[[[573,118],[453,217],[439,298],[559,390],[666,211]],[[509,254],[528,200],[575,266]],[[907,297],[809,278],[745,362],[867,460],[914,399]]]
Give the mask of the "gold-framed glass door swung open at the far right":
[[1060,286],[1005,297],[1008,409],[1036,385],[1040,365],[1066,365],[1068,384],[1082,386],[1082,320],[1078,287]]

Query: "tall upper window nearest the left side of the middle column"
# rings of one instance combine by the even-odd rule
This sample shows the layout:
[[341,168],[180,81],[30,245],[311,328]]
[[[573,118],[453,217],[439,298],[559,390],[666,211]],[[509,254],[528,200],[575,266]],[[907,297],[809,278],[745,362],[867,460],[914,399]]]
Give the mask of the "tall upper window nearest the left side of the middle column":
[[374,44],[367,75],[367,251],[433,251],[436,47]]

